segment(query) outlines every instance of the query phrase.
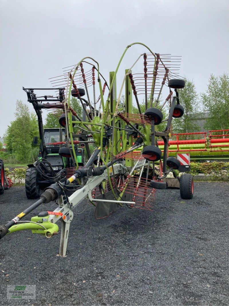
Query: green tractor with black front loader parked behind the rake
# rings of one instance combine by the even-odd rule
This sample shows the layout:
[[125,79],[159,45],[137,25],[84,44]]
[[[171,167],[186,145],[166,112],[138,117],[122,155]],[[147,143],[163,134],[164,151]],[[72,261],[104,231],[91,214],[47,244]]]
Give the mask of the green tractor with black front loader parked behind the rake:
[[[54,103],[48,103],[53,102],[52,96],[44,95],[37,98],[34,88],[23,88],[23,90],[26,91],[28,102],[32,103],[38,117],[40,138],[38,159],[34,164],[27,165],[28,169],[25,175],[26,196],[28,199],[36,199],[40,195],[40,189],[45,189],[53,184],[56,178],[61,176],[62,172],[64,172],[66,178],[71,177],[75,172],[76,165],[73,158],[73,150],[67,146],[65,114],[63,113],[59,118],[59,123],[62,127],[59,129],[43,129],[42,109],[61,108],[64,99],[64,95],[62,95],[63,88],[59,89],[59,96],[56,99],[54,98]],[[76,138],[73,138],[73,140],[76,143],[79,142],[76,141]],[[37,136],[34,137],[34,144],[38,144]],[[78,166],[84,166],[83,141],[81,147],[74,144],[74,151],[77,156]],[[44,164],[44,161],[47,163]],[[75,185],[78,186],[78,183]]]

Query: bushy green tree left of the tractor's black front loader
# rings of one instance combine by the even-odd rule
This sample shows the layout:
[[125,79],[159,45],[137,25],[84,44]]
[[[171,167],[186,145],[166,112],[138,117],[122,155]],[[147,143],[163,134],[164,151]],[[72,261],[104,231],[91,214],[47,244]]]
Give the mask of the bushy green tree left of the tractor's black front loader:
[[35,114],[21,100],[16,101],[15,120],[10,122],[4,140],[7,151],[15,154],[20,162],[29,162],[33,137],[38,135],[38,124]]

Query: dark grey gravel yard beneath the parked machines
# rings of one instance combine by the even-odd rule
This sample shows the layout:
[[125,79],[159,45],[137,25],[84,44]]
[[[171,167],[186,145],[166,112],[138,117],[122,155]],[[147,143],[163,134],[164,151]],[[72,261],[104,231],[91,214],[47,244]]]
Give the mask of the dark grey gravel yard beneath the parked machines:
[[[123,207],[102,220],[82,203],[66,258],[56,256],[60,235],[4,237],[0,304],[228,305],[228,187],[197,182],[192,200],[182,200],[179,189],[157,190],[152,212]],[[31,203],[24,187],[5,190],[0,223]],[[55,208],[42,205],[33,215]],[[35,285],[36,299],[7,300],[7,285]]]

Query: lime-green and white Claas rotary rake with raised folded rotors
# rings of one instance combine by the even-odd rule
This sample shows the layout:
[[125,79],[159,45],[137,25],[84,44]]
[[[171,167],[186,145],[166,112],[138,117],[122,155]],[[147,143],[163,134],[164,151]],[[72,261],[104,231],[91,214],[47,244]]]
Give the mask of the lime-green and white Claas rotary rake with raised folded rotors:
[[[125,70],[120,91],[117,92],[119,66],[129,48],[136,44],[141,45],[145,53],[140,54]],[[42,107],[45,102],[43,108],[54,109],[54,112],[61,110],[59,122],[65,128],[66,141],[61,142],[59,155],[71,157],[75,171],[66,178],[66,172],[61,170],[55,183],[45,189],[37,202],[0,226],[0,238],[25,229],[49,238],[58,233],[56,222],[61,220],[59,255],[66,256],[73,211],[85,198],[95,206],[95,217],[98,219],[110,215],[124,204],[131,209],[152,210],[155,189],[166,188],[166,178],[170,176],[178,182],[178,186],[180,184],[181,197],[191,199],[192,176],[179,173],[180,162],[176,158],[167,158],[172,120],[184,114],[178,89],[184,88],[185,81],[178,74],[179,66],[179,57],[154,53],[143,43],[132,43],[126,47],[116,70],[110,72],[109,82],[100,73],[99,64],[90,57],[65,68],[63,76],[51,78],[58,93],[57,102],[53,96],[37,97],[37,107]],[[27,90],[28,97],[36,97],[33,89]],[[124,91],[125,99],[122,98]],[[82,119],[71,107],[71,96],[82,105]],[[132,98],[138,114],[133,114]],[[142,103],[144,111],[141,110]],[[164,107],[169,107],[169,114],[163,119]],[[159,132],[162,122],[166,126]],[[163,157],[158,138],[164,141]],[[83,166],[78,164],[74,150],[77,141],[87,149],[88,161]],[[89,143],[95,146],[92,154]],[[46,160],[42,162],[46,168],[52,167]],[[70,186],[75,181],[78,184],[73,186],[69,195]],[[31,221],[20,221],[39,205],[50,201],[58,204],[53,212],[42,211]]]

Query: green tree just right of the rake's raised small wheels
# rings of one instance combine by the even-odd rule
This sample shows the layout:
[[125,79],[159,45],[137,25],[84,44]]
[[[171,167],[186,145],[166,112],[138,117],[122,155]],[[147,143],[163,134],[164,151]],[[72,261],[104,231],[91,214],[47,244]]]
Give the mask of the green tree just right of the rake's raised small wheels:
[[[186,80],[185,87],[178,90],[180,104],[184,107],[184,115],[172,121],[173,133],[198,132],[199,126],[195,123],[196,114],[200,111],[198,94],[193,81]],[[188,139],[188,135],[184,139]]]

